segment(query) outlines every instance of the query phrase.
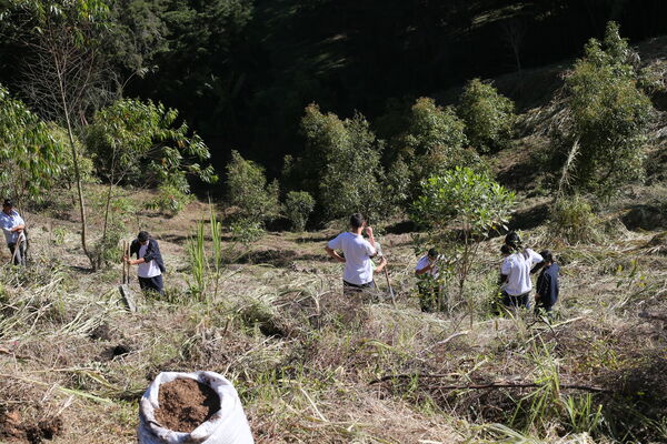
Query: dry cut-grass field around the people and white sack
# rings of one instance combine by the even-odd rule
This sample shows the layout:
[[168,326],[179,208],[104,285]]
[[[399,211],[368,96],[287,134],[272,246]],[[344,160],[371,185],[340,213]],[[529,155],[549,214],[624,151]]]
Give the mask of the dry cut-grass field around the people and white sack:
[[157,373],[209,370],[236,384],[259,443],[663,442],[667,236],[619,222],[637,195],[663,193],[628,190],[599,240],[576,245],[539,220],[546,198],[525,198],[516,223],[535,228],[524,238],[563,265],[557,316],[494,313],[494,238],[468,286],[472,327],[466,310],[419,310],[411,234],[396,226],[380,238],[396,306],[384,279],[374,301],[342,297],[341,266],[323,252],[334,229],[237,246],[217,292],[211,279],[195,297],[187,240],[208,205],[171,219],[140,211],[167,294],[129,313],[120,265],[86,270],[73,215],[28,214],[34,262],[1,269],[0,441],[135,442]]

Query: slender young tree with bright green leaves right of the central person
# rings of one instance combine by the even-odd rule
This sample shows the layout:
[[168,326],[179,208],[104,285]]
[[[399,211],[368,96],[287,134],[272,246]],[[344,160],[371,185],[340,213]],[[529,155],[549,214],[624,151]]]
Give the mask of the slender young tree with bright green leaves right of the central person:
[[[515,193],[485,173],[456,168],[421,183],[414,219],[429,229],[434,241],[450,252],[458,280],[459,299],[474,265],[480,242],[490,230],[504,226],[515,203]],[[468,297],[470,323],[472,305]]]

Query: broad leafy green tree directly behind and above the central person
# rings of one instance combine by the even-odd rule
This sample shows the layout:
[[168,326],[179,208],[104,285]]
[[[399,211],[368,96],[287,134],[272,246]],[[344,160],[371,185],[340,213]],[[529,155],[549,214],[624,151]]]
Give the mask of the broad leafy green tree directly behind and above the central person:
[[301,131],[306,155],[298,161],[298,169],[308,171],[303,189],[316,196],[325,216],[361,212],[374,218],[386,212],[380,185],[382,144],[361,114],[340,120],[310,104],[301,119]]

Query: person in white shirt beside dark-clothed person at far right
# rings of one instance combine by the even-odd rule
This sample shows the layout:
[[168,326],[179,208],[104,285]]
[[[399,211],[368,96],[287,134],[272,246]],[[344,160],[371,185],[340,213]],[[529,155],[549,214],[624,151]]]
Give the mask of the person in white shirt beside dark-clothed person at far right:
[[519,235],[514,231],[505,238],[505,244],[510,248],[511,254],[505,258],[500,266],[500,281],[502,283],[502,304],[507,307],[529,307],[530,269],[544,261],[542,256],[530,249],[521,246]]

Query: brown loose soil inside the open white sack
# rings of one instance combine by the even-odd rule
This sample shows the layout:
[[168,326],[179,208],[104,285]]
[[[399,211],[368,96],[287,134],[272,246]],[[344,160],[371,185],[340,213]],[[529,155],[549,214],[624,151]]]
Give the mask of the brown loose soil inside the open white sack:
[[220,410],[220,397],[195,380],[175,380],[160,385],[156,420],[176,432],[190,433]]

